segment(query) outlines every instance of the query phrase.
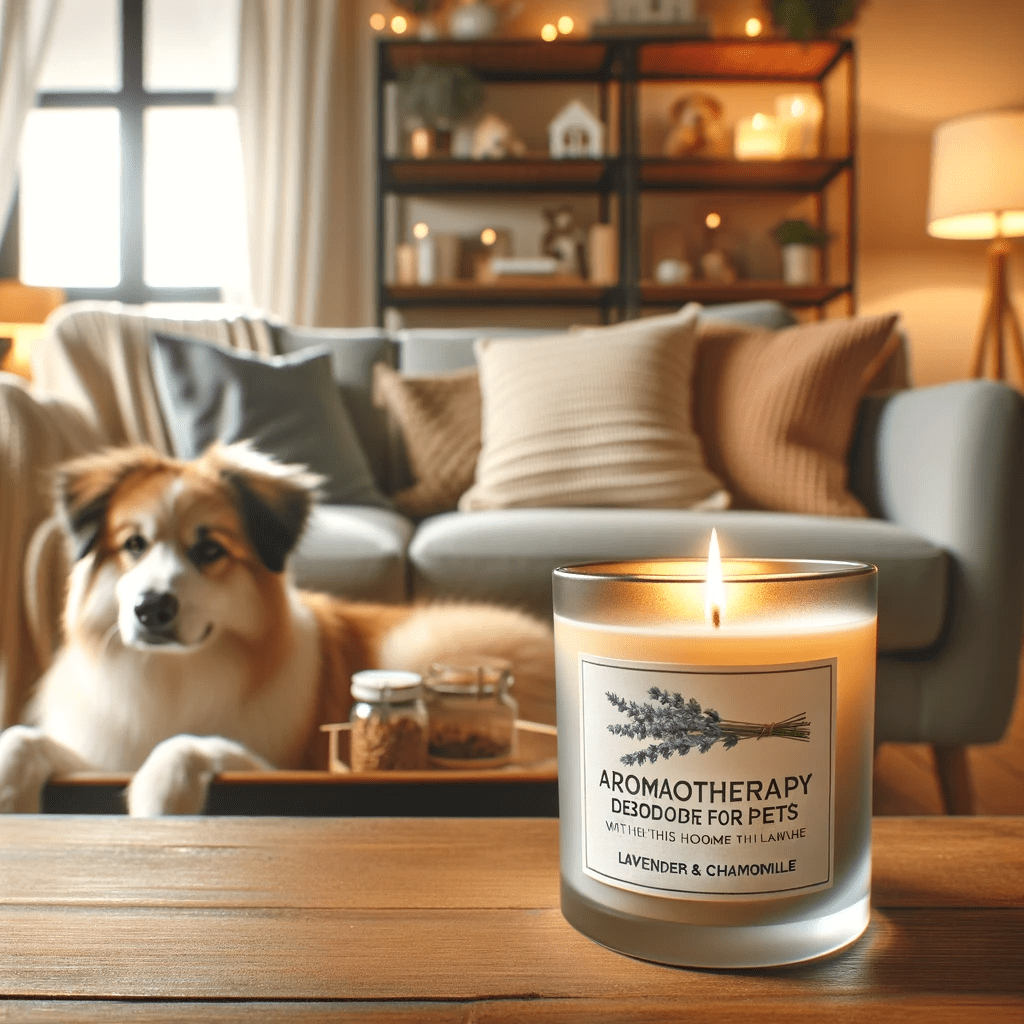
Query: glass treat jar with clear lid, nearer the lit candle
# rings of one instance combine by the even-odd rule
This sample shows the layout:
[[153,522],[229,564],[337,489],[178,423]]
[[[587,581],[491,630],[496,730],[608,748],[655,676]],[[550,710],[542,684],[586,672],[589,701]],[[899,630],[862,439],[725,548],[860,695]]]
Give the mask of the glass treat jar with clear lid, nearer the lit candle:
[[509,693],[512,667],[473,656],[438,664],[427,675],[428,753],[438,768],[492,768],[515,748],[518,706]]

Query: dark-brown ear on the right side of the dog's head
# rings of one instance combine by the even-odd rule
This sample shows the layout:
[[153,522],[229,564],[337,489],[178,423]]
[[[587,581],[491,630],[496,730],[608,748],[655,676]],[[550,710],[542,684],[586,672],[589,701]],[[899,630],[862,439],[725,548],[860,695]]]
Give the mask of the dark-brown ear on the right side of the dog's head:
[[245,442],[215,445],[204,460],[231,487],[260,561],[281,572],[306,527],[323,477],[304,466],[274,462]]

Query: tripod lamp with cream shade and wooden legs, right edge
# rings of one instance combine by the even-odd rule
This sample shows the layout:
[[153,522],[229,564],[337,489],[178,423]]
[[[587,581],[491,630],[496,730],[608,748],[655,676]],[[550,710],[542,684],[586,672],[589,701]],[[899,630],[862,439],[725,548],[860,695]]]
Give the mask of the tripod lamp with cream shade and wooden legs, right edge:
[[992,111],[940,124],[932,140],[928,233],[938,239],[992,239],[988,299],[972,373],[981,377],[991,343],[995,377],[1006,377],[1006,332],[1024,378],[1020,319],[1007,284],[1007,241],[1024,234],[1024,110]]

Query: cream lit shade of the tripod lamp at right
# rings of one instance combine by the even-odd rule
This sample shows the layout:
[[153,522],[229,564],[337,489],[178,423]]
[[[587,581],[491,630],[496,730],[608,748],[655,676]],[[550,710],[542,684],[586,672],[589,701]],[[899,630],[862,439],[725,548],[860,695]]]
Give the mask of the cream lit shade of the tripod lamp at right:
[[1024,111],[957,118],[935,129],[928,233],[1024,234]]

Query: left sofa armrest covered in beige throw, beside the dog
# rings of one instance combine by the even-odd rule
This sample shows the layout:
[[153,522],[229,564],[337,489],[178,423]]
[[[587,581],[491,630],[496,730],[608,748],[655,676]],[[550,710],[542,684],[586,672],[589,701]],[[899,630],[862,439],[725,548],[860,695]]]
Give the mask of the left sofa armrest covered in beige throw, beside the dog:
[[[73,406],[34,392],[13,374],[0,373],[0,727],[17,719],[48,659],[38,650],[40,632],[33,628],[39,609],[30,607],[28,598],[29,592],[52,594],[54,582],[41,579],[44,567],[30,567],[28,560],[31,552],[42,558],[44,551],[53,550],[38,540],[33,544],[52,512],[49,471],[101,444]],[[27,588],[27,582],[40,586]],[[44,632],[58,635],[56,625],[47,624]]]

